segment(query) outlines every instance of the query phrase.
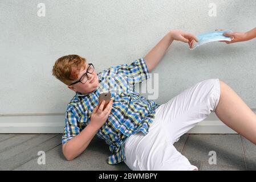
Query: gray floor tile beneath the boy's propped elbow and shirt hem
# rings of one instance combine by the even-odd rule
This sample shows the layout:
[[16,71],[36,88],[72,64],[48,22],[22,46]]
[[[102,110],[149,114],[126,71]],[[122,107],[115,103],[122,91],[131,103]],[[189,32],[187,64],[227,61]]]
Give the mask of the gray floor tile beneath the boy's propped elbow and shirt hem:
[[46,152],[46,164],[39,165],[36,158],[15,170],[130,170],[124,162],[109,165],[106,161],[109,154],[104,140],[94,138],[87,149],[72,161],[64,158],[60,145]]

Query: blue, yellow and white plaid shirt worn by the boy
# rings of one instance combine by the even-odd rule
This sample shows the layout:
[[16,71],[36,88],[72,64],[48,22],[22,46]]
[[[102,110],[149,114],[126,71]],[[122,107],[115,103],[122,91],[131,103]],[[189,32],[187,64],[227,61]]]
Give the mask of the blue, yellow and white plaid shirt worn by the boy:
[[105,124],[97,131],[97,137],[109,145],[111,155],[108,164],[117,164],[125,159],[124,143],[132,134],[148,133],[155,110],[159,107],[135,91],[135,84],[149,78],[147,64],[143,58],[130,65],[121,64],[97,73],[99,86],[91,93],[76,92],[66,111],[66,126],[62,144],[78,135],[90,123],[94,107],[99,104],[100,92],[110,90],[112,110]]

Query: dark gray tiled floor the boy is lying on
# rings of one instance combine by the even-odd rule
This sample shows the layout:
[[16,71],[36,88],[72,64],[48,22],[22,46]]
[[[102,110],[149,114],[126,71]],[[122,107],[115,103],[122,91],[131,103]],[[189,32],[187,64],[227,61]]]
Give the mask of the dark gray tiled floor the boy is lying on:
[[[61,138],[61,134],[0,134],[0,170],[129,170],[123,162],[107,164],[108,146],[97,137],[68,162]],[[256,146],[238,134],[185,134],[174,146],[201,171],[256,170]],[[46,164],[38,164],[38,151],[45,152]],[[210,151],[216,152],[216,164],[209,164]]]

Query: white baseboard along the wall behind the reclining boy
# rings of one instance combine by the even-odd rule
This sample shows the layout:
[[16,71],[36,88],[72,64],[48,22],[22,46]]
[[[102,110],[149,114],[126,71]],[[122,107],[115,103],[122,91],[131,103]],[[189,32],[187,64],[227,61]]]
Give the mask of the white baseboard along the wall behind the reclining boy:
[[[64,114],[0,115],[0,133],[63,133]],[[215,113],[198,123],[189,134],[234,134]]]

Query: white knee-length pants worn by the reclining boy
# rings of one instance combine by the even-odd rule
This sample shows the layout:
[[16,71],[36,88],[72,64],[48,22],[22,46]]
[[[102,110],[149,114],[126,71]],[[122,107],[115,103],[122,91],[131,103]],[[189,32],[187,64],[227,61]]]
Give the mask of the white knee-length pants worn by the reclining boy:
[[198,82],[159,106],[149,133],[140,132],[125,141],[125,164],[134,171],[197,170],[173,143],[215,111],[219,100],[220,81],[214,78]]

